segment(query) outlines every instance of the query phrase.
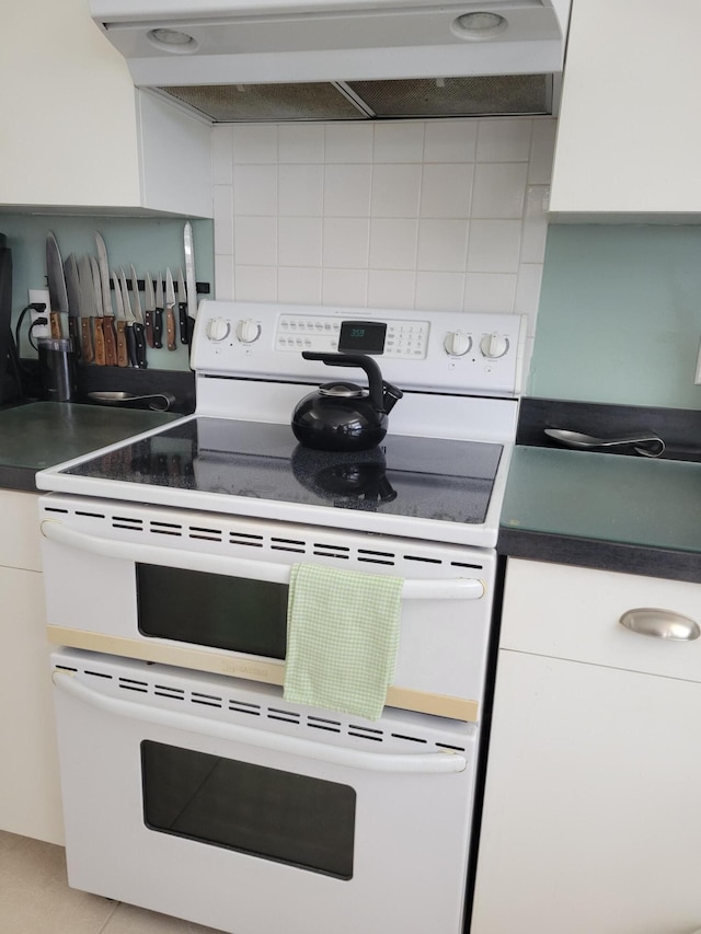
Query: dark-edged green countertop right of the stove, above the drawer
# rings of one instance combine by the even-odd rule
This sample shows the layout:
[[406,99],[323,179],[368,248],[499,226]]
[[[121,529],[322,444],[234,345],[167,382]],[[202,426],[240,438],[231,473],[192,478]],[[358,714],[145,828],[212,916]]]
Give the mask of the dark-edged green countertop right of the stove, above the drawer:
[[701,583],[701,463],[518,445],[497,549]]

